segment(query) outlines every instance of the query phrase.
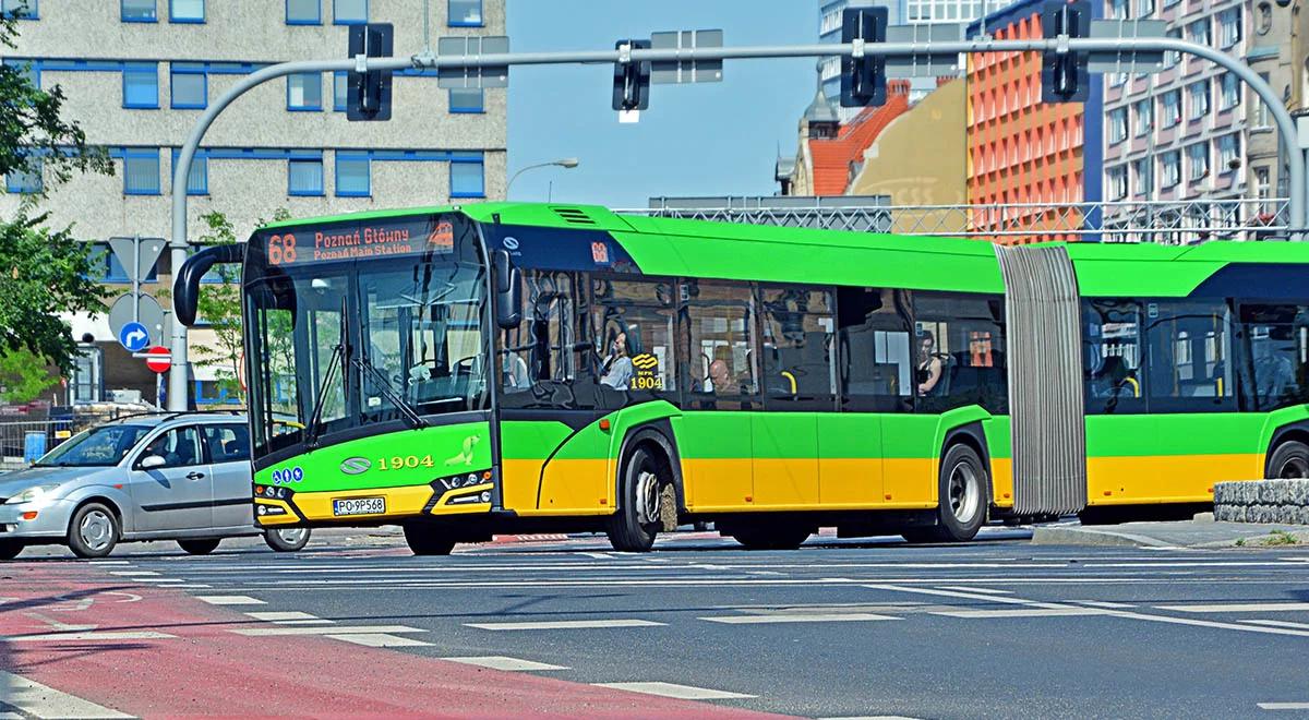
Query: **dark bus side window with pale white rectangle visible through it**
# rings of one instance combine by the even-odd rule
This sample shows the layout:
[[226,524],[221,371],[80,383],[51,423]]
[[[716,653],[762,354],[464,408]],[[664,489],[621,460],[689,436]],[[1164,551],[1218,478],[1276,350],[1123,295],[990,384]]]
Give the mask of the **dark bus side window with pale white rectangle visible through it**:
[[912,410],[915,381],[908,292],[838,288],[836,313],[842,408],[847,412]]

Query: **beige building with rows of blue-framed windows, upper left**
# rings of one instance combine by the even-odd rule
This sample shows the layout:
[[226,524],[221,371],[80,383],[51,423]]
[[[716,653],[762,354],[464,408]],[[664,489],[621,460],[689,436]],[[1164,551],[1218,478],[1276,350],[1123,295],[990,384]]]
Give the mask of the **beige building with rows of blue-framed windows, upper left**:
[[[361,22],[393,24],[397,55],[423,48],[416,0],[26,3],[4,62],[29,68],[42,88],[63,88],[65,115],[114,157],[114,177],[77,177],[46,203],[51,224],[75,224],[79,237],[97,242],[169,237],[175,154],[204,107],[250,72],[344,59],[350,25]],[[17,5],[4,0],[7,12]],[[432,0],[432,46],[446,35],[504,35],[504,0]],[[435,72],[412,69],[397,73],[393,88],[391,119],[374,123],[347,122],[344,73],[274,80],[237,99],[192,168],[190,238],[206,233],[200,217],[211,211],[245,236],[280,208],[313,216],[504,196],[505,90],[445,90]],[[0,212],[12,215],[18,195],[39,182],[5,178]],[[166,255],[156,266],[165,287]],[[107,281],[126,289],[122,267],[107,253],[105,262]],[[192,335],[192,346],[206,342]],[[140,361],[117,344],[105,317],[77,318],[75,336],[92,342],[69,399],[101,399],[118,387],[154,399],[153,382],[139,381]],[[195,380],[202,402],[219,399],[212,372],[198,368]]]

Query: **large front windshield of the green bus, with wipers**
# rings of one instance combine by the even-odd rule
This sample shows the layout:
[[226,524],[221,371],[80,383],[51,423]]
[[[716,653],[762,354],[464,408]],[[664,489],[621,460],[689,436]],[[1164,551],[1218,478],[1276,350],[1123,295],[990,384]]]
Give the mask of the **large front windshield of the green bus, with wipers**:
[[[452,224],[440,225],[440,251],[415,243],[423,251],[323,253],[317,262],[300,259],[315,253],[305,238],[321,246],[350,233],[253,241],[246,302],[257,458],[330,444],[343,431],[356,436],[363,425],[419,427],[424,416],[490,406],[486,268],[471,224],[453,241]],[[264,245],[281,250],[281,262]],[[296,259],[287,261],[288,247]]]

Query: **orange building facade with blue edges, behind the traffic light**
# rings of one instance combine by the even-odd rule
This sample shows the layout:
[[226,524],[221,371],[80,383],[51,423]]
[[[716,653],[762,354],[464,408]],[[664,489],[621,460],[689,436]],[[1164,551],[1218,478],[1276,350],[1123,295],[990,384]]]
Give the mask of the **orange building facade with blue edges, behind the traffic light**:
[[[995,39],[1041,38],[1042,5],[1024,0],[991,13],[969,26],[969,37],[986,31]],[[1100,5],[1093,7],[1098,16]],[[1050,206],[1102,198],[1100,77],[1092,76],[1085,103],[1043,103],[1038,52],[984,52],[969,55],[967,84],[971,229],[994,230],[994,240],[1007,243],[1098,240],[1060,232],[1081,228],[1084,212]],[[1004,207],[1014,204],[1029,207]]]

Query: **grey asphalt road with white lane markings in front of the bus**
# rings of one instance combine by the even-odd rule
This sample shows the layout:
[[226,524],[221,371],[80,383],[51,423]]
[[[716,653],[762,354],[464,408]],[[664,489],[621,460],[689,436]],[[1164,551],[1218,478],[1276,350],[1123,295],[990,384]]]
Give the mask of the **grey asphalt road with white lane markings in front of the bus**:
[[224,632],[278,639],[289,666],[326,638],[342,657],[453,657],[805,717],[1309,716],[1309,551],[983,538],[751,552],[691,534],[643,555],[580,538],[449,558],[141,546],[80,567],[249,613]]

